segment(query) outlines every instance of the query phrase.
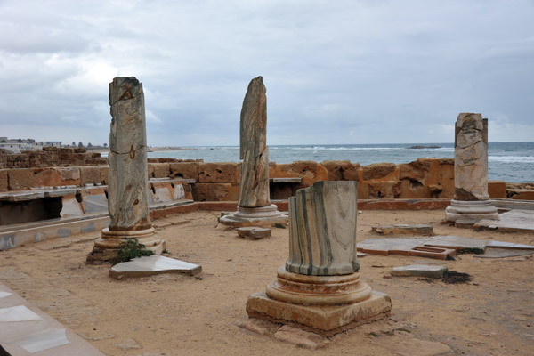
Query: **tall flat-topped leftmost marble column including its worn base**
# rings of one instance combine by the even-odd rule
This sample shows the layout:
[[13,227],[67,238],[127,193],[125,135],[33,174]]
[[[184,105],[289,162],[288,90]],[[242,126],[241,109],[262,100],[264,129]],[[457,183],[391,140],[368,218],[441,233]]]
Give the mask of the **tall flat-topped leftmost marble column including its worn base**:
[[150,223],[147,134],[142,83],[116,77],[109,83],[109,227],[94,243],[88,263],[113,260],[122,242],[137,239],[156,254],[165,249]]

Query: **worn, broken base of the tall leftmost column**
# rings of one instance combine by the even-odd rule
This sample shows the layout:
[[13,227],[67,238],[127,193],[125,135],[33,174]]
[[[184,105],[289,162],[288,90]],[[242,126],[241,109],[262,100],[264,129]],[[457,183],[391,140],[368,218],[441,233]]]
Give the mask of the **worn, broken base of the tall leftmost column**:
[[87,255],[85,263],[113,263],[117,259],[120,245],[128,239],[137,239],[139,244],[154,255],[161,255],[165,250],[165,240],[159,239],[154,228],[137,231],[109,231],[105,228],[101,231],[101,237],[94,241],[93,251]]

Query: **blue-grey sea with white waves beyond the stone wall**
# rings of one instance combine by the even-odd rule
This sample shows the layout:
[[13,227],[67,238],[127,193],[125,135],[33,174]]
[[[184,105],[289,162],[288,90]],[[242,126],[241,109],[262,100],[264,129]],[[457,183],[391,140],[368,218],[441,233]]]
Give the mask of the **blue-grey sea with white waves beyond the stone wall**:
[[[413,148],[422,146],[423,148]],[[239,162],[239,146],[191,146],[181,150],[149,151],[150,158],[204,159]],[[269,160],[277,163],[312,160],[350,160],[371,163],[409,163],[417,158],[454,158],[454,143],[310,144],[269,146]],[[488,178],[505,182],[534,182],[534,142],[490,142]]]

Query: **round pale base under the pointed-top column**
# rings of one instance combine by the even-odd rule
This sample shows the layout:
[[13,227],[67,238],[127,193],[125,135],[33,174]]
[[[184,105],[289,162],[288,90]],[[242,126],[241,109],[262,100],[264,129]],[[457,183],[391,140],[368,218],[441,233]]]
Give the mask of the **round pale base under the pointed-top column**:
[[236,228],[246,226],[271,226],[276,223],[286,224],[287,214],[280,213],[278,206],[242,207],[238,206],[238,211],[224,215],[220,222]]

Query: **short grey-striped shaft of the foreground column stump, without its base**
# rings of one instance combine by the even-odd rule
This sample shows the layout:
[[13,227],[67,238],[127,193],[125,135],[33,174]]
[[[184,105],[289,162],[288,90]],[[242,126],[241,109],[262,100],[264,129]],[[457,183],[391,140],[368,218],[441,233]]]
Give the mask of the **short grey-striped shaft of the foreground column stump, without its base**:
[[313,276],[360,269],[356,255],[358,184],[315,182],[289,198],[289,258],[286,270]]

